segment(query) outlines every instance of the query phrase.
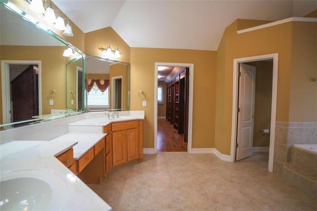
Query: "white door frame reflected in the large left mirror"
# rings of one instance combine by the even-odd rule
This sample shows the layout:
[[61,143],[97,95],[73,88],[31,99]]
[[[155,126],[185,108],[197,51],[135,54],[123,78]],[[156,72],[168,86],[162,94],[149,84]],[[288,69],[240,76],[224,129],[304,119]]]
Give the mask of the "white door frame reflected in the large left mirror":
[[[2,123],[11,123],[10,115],[10,64],[37,64],[39,66],[39,115],[42,115],[42,77],[40,60],[1,60]],[[8,95],[9,93],[9,95]]]

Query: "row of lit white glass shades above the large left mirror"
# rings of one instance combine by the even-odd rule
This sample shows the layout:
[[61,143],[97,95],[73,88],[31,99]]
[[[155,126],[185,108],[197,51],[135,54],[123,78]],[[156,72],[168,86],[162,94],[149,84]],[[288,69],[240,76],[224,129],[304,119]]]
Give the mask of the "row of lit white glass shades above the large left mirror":
[[[59,12],[59,15],[57,16],[57,18],[55,17],[55,12],[58,10],[54,10],[54,8],[52,7],[52,4],[50,3],[50,5],[46,8],[44,8],[44,4],[46,1],[50,1],[50,0],[26,0],[27,2],[30,3],[29,7],[30,9],[32,9],[35,12],[38,13],[42,13],[44,14],[44,19],[50,23],[54,23],[54,27],[58,30],[62,30],[63,35],[69,36],[69,37],[73,37],[73,31],[72,31],[72,27],[69,23],[68,18],[63,18]],[[65,26],[65,22],[64,19],[67,19],[68,22]]]

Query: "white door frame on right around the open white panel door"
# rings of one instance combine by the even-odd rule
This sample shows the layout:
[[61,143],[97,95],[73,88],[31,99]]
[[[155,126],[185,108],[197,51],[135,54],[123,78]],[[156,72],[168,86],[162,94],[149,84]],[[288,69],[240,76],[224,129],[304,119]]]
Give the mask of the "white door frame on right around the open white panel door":
[[[271,102],[270,102],[270,119],[269,119],[269,129],[270,132],[269,134],[269,155],[268,155],[268,171],[272,172],[273,171],[273,156],[274,156],[274,138],[275,138],[275,121],[276,121],[276,98],[277,98],[277,64],[278,64],[278,54],[273,53],[273,54],[267,54],[267,55],[260,55],[260,56],[252,56],[252,57],[246,57],[246,58],[238,58],[234,59],[233,63],[233,104],[232,104],[232,132],[231,132],[231,153],[230,153],[230,161],[234,162],[236,161],[236,156],[237,156],[237,144],[242,143],[237,143],[238,136],[241,136],[241,133],[239,133],[238,129],[238,118],[239,118],[239,110],[243,109],[243,107],[239,104],[239,99],[241,96],[239,96],[240,91],[239,90],[239,66],[241,63],[247,63],[247,62],[256,62],[256,61],[271,61],[272,62],[272,76],[271,76]],[[249,63],[250,64],[250,63]],[[241,94],[240,94],[241,95]],[[252,109],[250,109],[252,110]],[[252,116],[254,114],[249,113],[247,116],[251,116],[251,118],[254,118],[256,116]],[[250,118],[249,118],[250,119]],[[241,127],[241,125],[239,126]],[[261,128],[261,129],[266,129],[266,128]],[[255,130],[249,129],[249,132],[252,132],[252,136],[254,135]],[[260,132],[260,131],[258,131]],[[248,133],[245,133],[248,134]],[[249,136],[251,136],[249,133]],[[245,135],[245,137],[248,137]],[[250,138],[250,137],[249,137]],[[253,139],[253,138],[252,138]],[[250,143],[250,142],[249,142]],[[252,143],[253,144],[253,140]],[[242,144],[243,145],[243,144]],[[244,147],[247,145],[244,145]],[[251,150],[253,146],[251,146]],[[252,151],[251,151],[252,155]]]

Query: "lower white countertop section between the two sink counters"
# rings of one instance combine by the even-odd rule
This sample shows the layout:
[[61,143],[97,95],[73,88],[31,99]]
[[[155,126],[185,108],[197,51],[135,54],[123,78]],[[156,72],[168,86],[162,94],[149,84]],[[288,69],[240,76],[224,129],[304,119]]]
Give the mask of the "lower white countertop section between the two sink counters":
[[105,136],[106,133],[67,133],[53,139],[51,142],[78,142],[78,144],[73,147],[73,150],[74,159],[79,159]]

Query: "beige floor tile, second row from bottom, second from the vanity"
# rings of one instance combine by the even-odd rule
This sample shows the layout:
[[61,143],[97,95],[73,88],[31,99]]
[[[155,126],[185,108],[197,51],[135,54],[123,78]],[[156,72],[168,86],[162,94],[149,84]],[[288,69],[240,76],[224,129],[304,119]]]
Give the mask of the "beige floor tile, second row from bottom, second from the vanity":
[[142,187],[171,187],[168,171],[151,171],[143,173]]

